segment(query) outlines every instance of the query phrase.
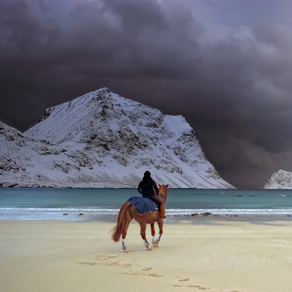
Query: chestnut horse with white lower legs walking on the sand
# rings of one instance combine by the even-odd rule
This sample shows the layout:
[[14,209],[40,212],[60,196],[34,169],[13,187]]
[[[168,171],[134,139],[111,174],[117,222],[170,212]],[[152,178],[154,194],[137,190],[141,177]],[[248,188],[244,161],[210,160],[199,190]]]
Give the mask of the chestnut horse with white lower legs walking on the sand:
[[[163,204],[166,202],[167,198],[167,185],[159,185],[158,196],[161,198]],[[151,247],[146,239],[146,224],[151,224],[151,235],[152,235],[152,245],[158,247],[158,244],[162,238],[163,233],[163,219],[160,217],[160,212],[157,210],[155,212],[150,212],[147,214],[138,214],[134,206],[130,202],[124,203],[118,215],[118,223],[115,227],[111,229],[111,239],[115,242],[120,241],[120,235],[122,236],[121,247],[123,252],[127,253],[126,236],[130,221],[135,219],[141,226],[141,237],[143,243],[147,250],[151,250]],[[155,229],[154,223],[157,222],[159,225],[159,236],[155,240]]]

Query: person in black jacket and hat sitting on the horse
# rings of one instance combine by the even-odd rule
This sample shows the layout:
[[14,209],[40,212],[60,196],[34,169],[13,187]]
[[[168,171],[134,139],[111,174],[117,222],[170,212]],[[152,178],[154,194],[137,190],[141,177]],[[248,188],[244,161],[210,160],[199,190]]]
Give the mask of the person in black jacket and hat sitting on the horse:
[[158,197],[158,188],[156,183],[152,180],[150,172],[147,171],[144,173],[144,177],[138,186],[138,192],[141,193],[144,198],[149,198],[153,202],[158,203],[161,218],[166,218],[163,202]]

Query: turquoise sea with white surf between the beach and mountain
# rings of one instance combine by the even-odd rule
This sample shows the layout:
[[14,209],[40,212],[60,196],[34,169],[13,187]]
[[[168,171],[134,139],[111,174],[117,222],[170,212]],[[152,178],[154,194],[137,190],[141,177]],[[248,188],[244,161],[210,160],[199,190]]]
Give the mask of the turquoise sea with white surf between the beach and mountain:
[[[94,220],[116,216],[136,189],[0,189],[0,220]],[[169,189],[168,216],[292,214],[291,190]]]

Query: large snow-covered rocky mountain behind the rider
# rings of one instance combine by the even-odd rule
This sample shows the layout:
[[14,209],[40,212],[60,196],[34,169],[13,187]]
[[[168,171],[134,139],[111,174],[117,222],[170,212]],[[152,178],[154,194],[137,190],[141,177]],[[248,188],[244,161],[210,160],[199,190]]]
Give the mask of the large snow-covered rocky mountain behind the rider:
[[21,133],[0,124],[0,185],[137,187],[147,170],[170,187],[233,188],[183,116],[99,89],[47,109]]

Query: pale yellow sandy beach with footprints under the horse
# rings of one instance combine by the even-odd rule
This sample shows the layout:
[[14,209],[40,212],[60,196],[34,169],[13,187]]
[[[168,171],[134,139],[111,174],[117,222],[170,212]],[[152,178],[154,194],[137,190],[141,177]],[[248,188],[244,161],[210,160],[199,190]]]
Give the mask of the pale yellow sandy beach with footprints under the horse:
[[1,221],[0,291],[292,291],[291,222],[190,223],[151,251],[130,224],[123,254],[114,224]]

